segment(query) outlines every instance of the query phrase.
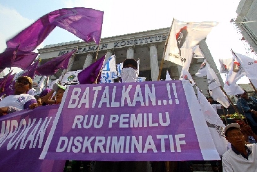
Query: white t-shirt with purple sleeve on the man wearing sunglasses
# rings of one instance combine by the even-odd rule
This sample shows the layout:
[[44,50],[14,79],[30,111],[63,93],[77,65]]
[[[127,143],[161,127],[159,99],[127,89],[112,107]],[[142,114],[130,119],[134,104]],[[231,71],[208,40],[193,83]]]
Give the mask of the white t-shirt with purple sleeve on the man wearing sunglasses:
[[30,100],[36,101],[35,97],[32,95],[29,95],[29,94],[10,95],[10,96],[3,98],[0,101],[0,107],[13,106],[18,109],[24,109],[25,103]]

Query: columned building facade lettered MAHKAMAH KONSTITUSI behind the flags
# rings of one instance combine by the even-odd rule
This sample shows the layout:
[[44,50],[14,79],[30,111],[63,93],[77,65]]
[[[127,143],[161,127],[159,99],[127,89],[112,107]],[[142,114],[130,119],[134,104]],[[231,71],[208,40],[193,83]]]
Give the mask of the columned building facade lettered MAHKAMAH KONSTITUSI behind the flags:
[[[46,45],[43,49],[38,49],[41,64],[51,58],[63,55],[78,49],[70,59],[67,71],[77,71],[85,69],[97,59],[106,55],[106,59],[113,54],[116,56],[116,64],[122,63],[126,58],[140,59],[139,76],[146,77],[146,81],[156,81],[159,75],[159,67],[163,57],[164,45],[168,37],[169,28],[156,29],[145,32],[137,32],[126,35],[102,38],[99,47],[94,43],[83,41],[71,41],[54,45]],[[203,55],[207,58],[210,66],[217,73],[218,69],[211,56],[205,40],[199,43]],[[198,71],[203,58],[193,58],[189,72],[200,90],[208,95],[207,77],[197,77],[194,74]],[[181,73],[181,66],[165,60],[161,72],[161,80],[165,80],[168,70],[172,79],[178,80]],[[62,76],[66,70],[59,70],[50,79],[56,80]],[[220,81],[222,81],[219,75]],[[223,83],[223,82],[221,82]]]

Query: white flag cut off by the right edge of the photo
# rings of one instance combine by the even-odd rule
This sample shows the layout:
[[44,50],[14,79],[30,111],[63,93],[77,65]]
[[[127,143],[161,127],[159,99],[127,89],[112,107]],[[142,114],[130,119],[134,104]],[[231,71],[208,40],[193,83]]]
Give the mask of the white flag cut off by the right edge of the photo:
[[257,79],[257,60],[246,55],[234,53],[238,62],[242,65],[247,78]]

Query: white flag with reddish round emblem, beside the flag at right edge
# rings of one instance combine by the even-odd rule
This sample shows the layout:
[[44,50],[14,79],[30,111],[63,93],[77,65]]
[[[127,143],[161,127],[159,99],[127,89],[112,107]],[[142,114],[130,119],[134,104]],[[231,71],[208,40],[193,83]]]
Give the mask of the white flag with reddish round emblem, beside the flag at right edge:
[[242,65],[240,62],[237,60],[236,55],[232,51],[232,63],[230,66],[229,74],[227,76],[227,82],[228,84],[236,83],[237,80],[242,78],[242,76],[246,75]]

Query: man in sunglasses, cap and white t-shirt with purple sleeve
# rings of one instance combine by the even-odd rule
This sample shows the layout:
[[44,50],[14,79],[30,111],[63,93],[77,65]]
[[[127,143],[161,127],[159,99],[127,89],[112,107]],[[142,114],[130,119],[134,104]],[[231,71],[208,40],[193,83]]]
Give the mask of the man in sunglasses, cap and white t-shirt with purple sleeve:
[[27,94],[32,88],[33,80],[28,76],[17,78],[14,95],[9,95],[0,101],[0,116],[27,109],[29,105],[37,103],[34,96]]

